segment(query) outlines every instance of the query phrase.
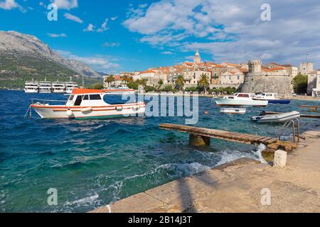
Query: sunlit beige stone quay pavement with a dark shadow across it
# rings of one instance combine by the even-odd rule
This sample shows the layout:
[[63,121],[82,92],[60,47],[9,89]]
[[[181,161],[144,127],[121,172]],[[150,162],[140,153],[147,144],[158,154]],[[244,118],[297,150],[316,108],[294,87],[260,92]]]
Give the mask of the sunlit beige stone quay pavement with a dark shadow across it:
[[[320,132],[277,168],[242,158],[92,212],[320,212]],[[262,206],[262,189],[271,204]]]

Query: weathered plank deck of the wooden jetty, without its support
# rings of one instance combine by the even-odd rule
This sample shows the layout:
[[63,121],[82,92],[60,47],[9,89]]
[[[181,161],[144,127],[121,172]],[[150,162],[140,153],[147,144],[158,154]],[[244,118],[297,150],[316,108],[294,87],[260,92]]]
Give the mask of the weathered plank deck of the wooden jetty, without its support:
[[268,145],[277,142],[277,138],[261,135],[251,135],[246,133],[235,133],[230,131],[221,131],[210,128],[198,128],[193,126],[176,125],[172,123],[161,123],[159,128],[171,131],[180,131],[183,133],[190,133],[192,135],[205,136],[209,138],[218,138],[222,140],[230,140],[238,143],[260,144]]

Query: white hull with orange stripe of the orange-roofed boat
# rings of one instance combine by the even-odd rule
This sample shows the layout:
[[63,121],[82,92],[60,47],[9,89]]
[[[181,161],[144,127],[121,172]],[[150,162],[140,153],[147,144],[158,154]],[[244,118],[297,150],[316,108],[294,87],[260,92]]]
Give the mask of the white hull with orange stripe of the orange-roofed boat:
[[145,104],[123,104],[110,106],[46,106],[33,104],[31,108],[41,118],[114,118],[122,116],[143,116]]

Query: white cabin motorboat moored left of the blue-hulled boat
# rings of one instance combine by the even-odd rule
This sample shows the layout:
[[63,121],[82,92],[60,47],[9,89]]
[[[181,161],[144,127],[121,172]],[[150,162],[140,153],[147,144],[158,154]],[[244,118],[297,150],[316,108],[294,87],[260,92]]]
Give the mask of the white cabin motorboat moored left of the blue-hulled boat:
[[267,100],[254,100],[255,94],[235,93],[233,96],[214,98],[217,106],[267,106]]

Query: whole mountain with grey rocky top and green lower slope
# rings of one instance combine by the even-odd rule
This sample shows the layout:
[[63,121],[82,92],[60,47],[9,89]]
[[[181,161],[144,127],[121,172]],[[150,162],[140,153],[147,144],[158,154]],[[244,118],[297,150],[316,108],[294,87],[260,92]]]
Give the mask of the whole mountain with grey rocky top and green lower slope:
[[66,81],[85,78],[89,84],[102,83],[102,73],[84,62],[61,57],[33,35],[0,31],[0,87],[21,87],[24,80]]

